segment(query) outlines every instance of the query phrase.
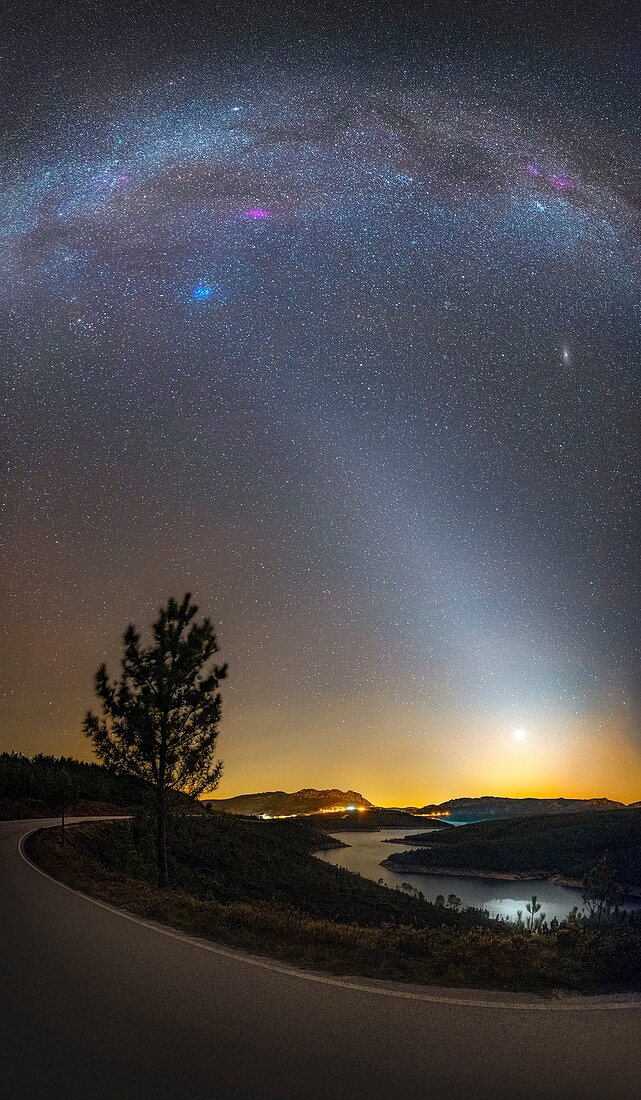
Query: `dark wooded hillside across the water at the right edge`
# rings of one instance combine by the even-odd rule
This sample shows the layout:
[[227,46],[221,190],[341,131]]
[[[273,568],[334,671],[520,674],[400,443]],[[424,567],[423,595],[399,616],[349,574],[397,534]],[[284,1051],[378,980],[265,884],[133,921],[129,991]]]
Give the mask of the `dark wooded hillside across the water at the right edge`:
[[420,850],[394,853],[386,866],[400,873],[447,868],[581,882],[607,851],[619,881],[634,892],[641,888],[639,810],[479,822],[411,843]]

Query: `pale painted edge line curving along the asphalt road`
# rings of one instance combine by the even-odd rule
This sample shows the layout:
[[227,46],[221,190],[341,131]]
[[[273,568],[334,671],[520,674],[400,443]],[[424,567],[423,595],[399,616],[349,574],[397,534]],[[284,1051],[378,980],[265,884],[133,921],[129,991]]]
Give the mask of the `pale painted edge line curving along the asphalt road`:
[[[106,821],[109,818],[102,818]],[[112,818],[113,820],[113,818]],[[80,824],[76,822],[75,824]],[[155,921],[146,921],[144,917],[134,916],[133,913],[128,913],[122,909],[118,909],[115,905],[108,905],[107,902],[99,901],[97,898],[91,898],[89,894],[82,893],[80,890],[74,890],[73,887],[67,886],[66,882],[60,882],[59,879],[55,879],[53,875],[47,875],[43,871],[41,867],[29,859],[24,853],[24,840],[33,833],[37,833],[42,828],[56,828],[55,825],[40,825],[35,828],[30,828],[26,833],[23,833],[18,842],[18,853],[21,859],[32,868],[32,870],[37,871],[43,878],[48,879],[56,887],[60,887],[63,890],[68,890],[69,893],[76,895],[76,898],[81,898],[82,901],[90,902],[92,905],[98,905],[99,909],[106,909],[109,913],[114,913],[117,916],[122,916],[125,921],[131,921],[133,924],[140,924],[143,928],[148,928],[151,932],[157,932],[161,936],[167,936],[168,939],[177,939],[179,943],[189,944],[191,947],[197,947],[199,950],[209,952],[211,955],[221,955],[223,958],[233,959],[234,963],[244,963],[246,966],[258,967],[261,970],[272,970],[274,974],[281,974],[288,978],[301,978],[305,981],[313,981],[319,986],[338,986],[341,989],[353,989],[360,993],[374,993],[377,997],[395,997],[405,1001],[426,1001],[430,1004],[454,1004],[464,1008],[472,1009],[509,1009],[510,1011],[519,1010],[521,1012],[612,1012],[621,1009],[641,1009],[641,1000],[636,1001],[606,1001],[605,1003],[588,1003],[588,1004],[567,1004],[567,1003],[548,1003],[548,1002],[531,1002],[531,1001],[487,1001],[480,998],[458,998],[458,997],[445,997],[439,993],[415,993],[409,989],[385,989],[377,986],[366,985],[365,982],[351,981],[347,978],[339,977],[325,977],[319,974],[309,974],[306,970],[299,970],[296,967],[290,967],[283,965],[280,963],[270,963],[268,959],[263,959],[256,955],[245,955],[242,952],[235,952],[230,947],[222,947],[213,943],[208,943],[205,939],[196,939],[191,936],[187,936],[183,932],[177,932],[173,928],[166,927],[165,925],[158,924]]]

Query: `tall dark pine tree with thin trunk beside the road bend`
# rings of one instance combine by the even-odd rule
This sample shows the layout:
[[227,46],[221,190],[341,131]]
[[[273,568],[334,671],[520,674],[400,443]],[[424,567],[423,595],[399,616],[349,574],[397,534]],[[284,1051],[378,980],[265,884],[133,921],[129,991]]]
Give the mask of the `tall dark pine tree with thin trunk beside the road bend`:
[[211,666],[218,652],[208,618],[196,623],[189,593],[169,600],[152,625],[144,647],[129,626],[122,672],[111,680],[102,666],[96,694],[103,717],[89,712],[85,733],[100,760],[119,774],[142,780],[154,793],[158,884],[168,884],[167,817],[180,794],[213,790],[222,763],[214,759],[221,716],[219,682],[226,664]]

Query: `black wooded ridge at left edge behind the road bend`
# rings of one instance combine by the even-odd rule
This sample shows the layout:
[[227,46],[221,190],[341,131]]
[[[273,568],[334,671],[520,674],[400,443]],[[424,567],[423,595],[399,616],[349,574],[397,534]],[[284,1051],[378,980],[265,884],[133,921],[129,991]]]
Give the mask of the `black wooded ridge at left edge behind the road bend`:
[[37,800],[57,807],[60,792],[65,802],[101,802],[115,806],[139,805],[144,799],[142,784],[114,776],[98,763],[85,763],[73,757],[23,756],[0,754],[0,798]]

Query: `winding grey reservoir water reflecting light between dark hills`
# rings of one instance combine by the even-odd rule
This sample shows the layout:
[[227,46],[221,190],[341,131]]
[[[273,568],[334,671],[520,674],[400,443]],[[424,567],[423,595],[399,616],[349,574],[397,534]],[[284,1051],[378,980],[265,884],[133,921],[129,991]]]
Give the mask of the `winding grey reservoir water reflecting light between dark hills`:
[[[430,832],[421,828],[421,833]],[[324,859],[328,864],[336,867],[344,867],[349,871],[357,871],[364,878],[383,879],[386,886],[398,887],[401,882],[410,882],[426,895],[428,901],[433,901],[438,894],[447,898],[449,894],[456,894],[463,905],[474,905],[477,909],[487,909],[491,916],[510,917],[516,920],[518,910],[522,910],[526,917],[526,902],[532,894],[537,894],[541,901],[541,912],[545,913],[548,921],[556,917],[562,921],[567,916],[571,909],[576,905],[583,909],[583,901],[579,890],[570,887],[559,887],[553,882],[543,880],[528,882],[508,882],[505,879],[472,879],[458,876],[445,875],[409,875],[405,871],[398,875],[389,871],[386,867],[380,867],[380,861],[386,859],[393,851],[410,851],[412,845],[384,844],[387,838],[399,838],[407,835],[407,828],[380,829],[379,833],[335,833],[336,840],[349,844],[349,848],[333,848],[331,851],[319,851],[319,859]],[[416,845],[413,846],[416,847]],[[641,901],[631,901],[626,908],[640,909]]]

